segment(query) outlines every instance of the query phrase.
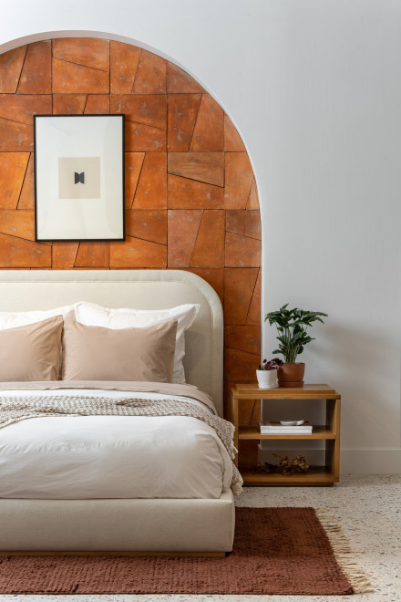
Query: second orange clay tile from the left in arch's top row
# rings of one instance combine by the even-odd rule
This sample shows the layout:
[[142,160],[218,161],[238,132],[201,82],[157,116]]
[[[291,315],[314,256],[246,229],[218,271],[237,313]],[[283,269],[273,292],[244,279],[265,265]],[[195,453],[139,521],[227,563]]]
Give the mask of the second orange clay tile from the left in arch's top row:
[[35,42],[26,50],[18,94],[50,94],[52,91],[51,42]]

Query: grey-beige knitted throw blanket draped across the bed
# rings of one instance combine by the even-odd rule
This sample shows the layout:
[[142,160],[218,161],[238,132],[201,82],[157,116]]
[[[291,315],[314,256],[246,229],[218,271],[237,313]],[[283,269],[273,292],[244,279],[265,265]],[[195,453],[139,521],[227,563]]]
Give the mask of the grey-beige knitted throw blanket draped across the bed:
[[[181,400],[141,400],[129,397],[112,400],[85,395],[52,395],[46,398],[30,395],[0,399],[0,428],[19,420],[43,416],[190,416],[211,426],[231,460],[235,457],[234,426],[231,422]],[[242,489],[242,476],[234,464],[231,489],[233,493],[241,493]]]

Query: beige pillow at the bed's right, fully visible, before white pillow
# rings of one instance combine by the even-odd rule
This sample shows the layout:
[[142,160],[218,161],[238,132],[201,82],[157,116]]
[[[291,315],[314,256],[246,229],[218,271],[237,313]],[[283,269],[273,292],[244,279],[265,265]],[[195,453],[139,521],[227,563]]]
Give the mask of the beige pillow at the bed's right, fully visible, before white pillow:
[[67,319],[62,379],[171,382],[176,331],[177,320],[115,330]]

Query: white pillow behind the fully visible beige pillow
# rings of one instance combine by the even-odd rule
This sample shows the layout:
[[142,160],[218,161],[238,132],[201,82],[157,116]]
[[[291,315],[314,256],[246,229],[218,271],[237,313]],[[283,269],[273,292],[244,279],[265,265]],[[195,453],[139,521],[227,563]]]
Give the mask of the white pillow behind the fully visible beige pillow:
[[199,312],[198,304],[187,304],[170,309],[111,309],[95,303],[81,301],[75,306],[76,319],[84,326],[114,328],[149,327],[178,320],[172,382],[183,384],[185,372],[185,331]]

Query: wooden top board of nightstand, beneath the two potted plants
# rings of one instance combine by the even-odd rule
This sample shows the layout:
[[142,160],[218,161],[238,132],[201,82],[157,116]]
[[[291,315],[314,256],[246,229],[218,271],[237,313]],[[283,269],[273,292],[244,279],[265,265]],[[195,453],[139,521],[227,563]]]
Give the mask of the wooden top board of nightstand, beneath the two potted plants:
[[238,400],[339,400],[341,395],[328,385],[308,385],[303,387],[275,387],[260,389],[257,383],[238,383],[232,392]]

